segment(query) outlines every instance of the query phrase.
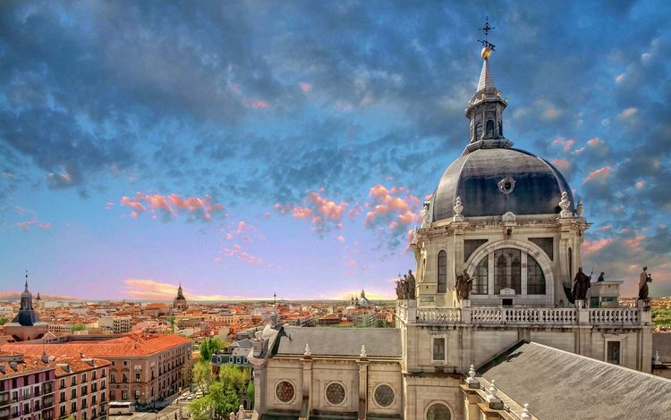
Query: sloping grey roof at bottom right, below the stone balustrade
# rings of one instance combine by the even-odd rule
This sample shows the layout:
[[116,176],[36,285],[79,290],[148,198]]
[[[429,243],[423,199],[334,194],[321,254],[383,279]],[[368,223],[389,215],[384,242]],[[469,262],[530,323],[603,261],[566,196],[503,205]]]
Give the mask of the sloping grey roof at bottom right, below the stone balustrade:
[[485,369],[488,382],[496,380],[505,395],[528,403],[538,418],[667,418],[671,413],[668,379],[533,342],[510,349]]

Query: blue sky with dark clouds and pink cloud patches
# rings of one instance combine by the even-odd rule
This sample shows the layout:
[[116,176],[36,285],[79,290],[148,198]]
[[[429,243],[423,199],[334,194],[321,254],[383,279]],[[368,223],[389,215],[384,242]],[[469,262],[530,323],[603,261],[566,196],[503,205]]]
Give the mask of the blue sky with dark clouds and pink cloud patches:
[[486,16],[583,265],[671,295],[671,4],[310,0],[3,2],[0,296],[392,298]]

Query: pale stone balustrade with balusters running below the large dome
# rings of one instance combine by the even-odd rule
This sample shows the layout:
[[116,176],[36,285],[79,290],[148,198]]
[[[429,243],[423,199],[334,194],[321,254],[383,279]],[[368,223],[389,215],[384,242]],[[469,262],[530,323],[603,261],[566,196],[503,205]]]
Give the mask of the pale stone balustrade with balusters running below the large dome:
[[400,301],[403,323],[477,325],[650,325],[650,310],[637,307],[412,307]]

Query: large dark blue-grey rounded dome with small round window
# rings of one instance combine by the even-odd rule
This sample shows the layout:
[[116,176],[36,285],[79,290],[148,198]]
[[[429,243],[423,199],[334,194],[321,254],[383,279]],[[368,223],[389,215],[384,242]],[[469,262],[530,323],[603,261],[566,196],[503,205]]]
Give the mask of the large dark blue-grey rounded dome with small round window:
[[457,197],[464,217],[559,214],[566,191],[573,212],[564,176],[544,159],[511,146],[509,140],[480,140],[467,147],[438,182],[429,204],[432,221],[453,217]]

